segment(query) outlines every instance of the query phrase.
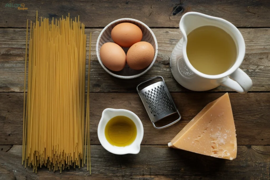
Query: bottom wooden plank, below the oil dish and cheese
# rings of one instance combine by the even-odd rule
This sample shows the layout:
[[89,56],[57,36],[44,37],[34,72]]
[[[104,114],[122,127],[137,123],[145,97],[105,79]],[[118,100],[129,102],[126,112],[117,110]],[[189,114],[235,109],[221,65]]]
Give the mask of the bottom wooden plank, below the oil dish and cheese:
[[[91,145],[92,175],[81,169],[38,173],[21,165],[21,145],[1,145],[0,179],[269,179],[270,146],[238,146],[233,161],[208,157],[168,146],[141,146],[137,155],[114,155]],[[177,175],[177,176],[176,176]],[[89,177],[90,176],[90,177]],[[132,178],[133,179],[133,178]]]

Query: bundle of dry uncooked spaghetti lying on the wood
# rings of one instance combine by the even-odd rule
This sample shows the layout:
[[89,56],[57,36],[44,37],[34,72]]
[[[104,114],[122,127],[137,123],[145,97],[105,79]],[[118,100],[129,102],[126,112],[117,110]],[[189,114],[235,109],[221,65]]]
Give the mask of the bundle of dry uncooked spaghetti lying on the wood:
[[[38,12],[36,13],[38,17]],[[90,170],[88,71],[85,120],[85,25],[79,16],[31,21],[28,89],[24,93],[23,161],[33,171],[42,165],[60,170],[85,164]],[[28,36],[28,20],[26,35]],[[28,37],[26,36],[26,54]],[[89,49],[91,43],[91,34]],[[25,56],[25,84],[26,84]],[[90,51],[89,68],[90,70]],[[26,91],[26,88],[25,88]],[[84,131],[85,129],[85,131]],[[84,146],[85,144],[85,146]],[[86,151],[87,146],[87,151]],[[86,156],[87,154],[87,156]]]

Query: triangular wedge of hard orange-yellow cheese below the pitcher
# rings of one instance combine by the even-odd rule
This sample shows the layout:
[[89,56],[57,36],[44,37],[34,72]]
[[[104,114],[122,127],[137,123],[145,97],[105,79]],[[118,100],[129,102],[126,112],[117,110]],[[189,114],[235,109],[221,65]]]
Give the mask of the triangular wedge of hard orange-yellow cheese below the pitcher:
[[217,158],[235,159],[237,142],[229,94],[207,104],[168,146]]

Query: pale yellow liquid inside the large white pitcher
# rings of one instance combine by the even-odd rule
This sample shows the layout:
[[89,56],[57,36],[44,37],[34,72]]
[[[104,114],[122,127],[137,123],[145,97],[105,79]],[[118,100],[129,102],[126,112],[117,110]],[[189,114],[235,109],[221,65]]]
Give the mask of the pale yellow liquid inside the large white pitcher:
[[232,37],[215,26],[202,26],[187,36],[187,57],[198,71],[217,75],[226,72],[237,58]]

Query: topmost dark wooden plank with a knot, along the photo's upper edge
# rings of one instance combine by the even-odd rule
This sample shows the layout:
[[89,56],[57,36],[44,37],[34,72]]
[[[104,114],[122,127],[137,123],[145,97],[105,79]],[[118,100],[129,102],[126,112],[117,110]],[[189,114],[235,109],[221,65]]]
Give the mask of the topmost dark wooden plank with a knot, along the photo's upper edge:
[[25,0],[27,10],[1,3],[0,27],[26,27],[26,19],[35,20],[38,16],[60,18],[70,13],[80,19],[86,27],[104,27],[119,18],[134,18],[150,27],[178,27],[181,16],[189,11],[197,11],[218,16],[235,24],[237,27],[270,27],[269,2],[261,1],[155,1],[155,0],[120,0],[120,1],[30,1]]

